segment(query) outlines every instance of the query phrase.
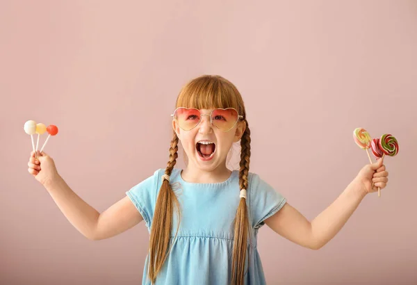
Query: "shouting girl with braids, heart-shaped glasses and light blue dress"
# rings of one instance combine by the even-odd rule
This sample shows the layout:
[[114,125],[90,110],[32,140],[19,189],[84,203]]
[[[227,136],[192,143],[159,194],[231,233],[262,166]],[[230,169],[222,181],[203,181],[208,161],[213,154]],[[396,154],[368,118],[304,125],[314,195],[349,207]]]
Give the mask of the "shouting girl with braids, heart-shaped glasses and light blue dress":
[[[264,224],[318,250],[343,227],[367,193],[385,188],[382,164],[364,166],[336,201],[312,222],[259,175],[249,172],[250,129],[243,99],[222,76],[199,76],[184,86],[172,113],[167,168],[159,169],[99,213],[76,195],[42,152],[28,172],[48,190],[65,217],[90,240],[110,238],[145,220],[149,254],[142,284],[265,284],[256,238]],[[240,169],[226,167],[240,140]],[[174,168],[178,143],[188,157]]]

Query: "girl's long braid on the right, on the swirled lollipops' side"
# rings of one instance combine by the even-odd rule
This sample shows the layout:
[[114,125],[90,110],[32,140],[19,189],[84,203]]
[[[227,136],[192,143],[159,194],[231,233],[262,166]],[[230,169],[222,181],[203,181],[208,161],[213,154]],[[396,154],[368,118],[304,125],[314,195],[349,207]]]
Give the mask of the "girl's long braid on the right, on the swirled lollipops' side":
[[[239,188],[247,189],[247,177],[250,163],[250,129],[246,122],[246,129],[240,138],[240,170]],[[245,261],[247,249],[247,235],[250,230],[249,217],[246,206],[246,199],[240,198],[238,210],[236,211],[234,226],[234,243],[231,266],[231,285],[243,285],[245,275]]]

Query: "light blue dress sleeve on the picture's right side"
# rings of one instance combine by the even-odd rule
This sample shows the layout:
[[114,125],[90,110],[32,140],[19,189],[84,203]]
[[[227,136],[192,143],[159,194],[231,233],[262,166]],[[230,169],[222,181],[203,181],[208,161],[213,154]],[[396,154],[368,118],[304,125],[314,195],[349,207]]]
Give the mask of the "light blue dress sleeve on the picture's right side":
[[263,181],[258,174],[250,173],[248,181],[250,213],[252,219],[252,227],[259,229],[265,225],[264,220],[274,215],[286,203],[280,193],[278,193],[272,186]]

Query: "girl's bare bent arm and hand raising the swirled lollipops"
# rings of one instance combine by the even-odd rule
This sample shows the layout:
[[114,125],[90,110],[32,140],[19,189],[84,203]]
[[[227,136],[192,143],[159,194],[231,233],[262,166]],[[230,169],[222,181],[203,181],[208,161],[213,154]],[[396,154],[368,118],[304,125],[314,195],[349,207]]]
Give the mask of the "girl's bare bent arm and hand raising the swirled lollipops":
[[367,193],[386,187],[388,172],[382,159],[365,165],[337,199],[311,222],[292,206],[285,204],[265,220],[272,230],[304,247],[318,250],[340,231]]

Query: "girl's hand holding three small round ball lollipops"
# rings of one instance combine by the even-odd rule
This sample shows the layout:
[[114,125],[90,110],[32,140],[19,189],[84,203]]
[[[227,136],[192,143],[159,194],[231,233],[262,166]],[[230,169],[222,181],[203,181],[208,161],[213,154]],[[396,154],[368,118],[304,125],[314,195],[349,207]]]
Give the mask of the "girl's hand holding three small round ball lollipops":
[[38,157],[35,159],[35,152],[31,152],[31,157],[28,162],[28,172],[45,186],[46,183],[58,177],[58,171],[51,156],[40,151],[37,154]]

